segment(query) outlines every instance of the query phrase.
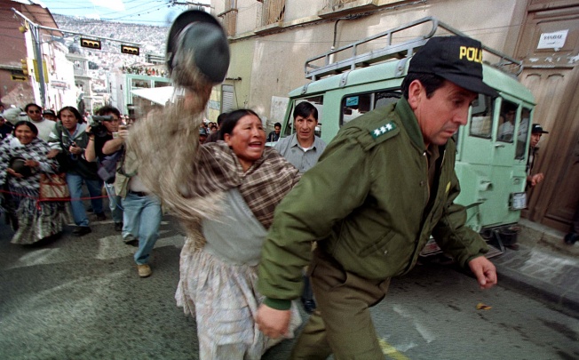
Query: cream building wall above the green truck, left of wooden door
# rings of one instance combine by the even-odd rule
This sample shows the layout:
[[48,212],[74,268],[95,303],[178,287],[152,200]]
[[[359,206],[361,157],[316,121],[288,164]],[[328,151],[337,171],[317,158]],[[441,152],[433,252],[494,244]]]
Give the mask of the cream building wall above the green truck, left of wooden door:
[[[270,29],[270,33],[255,34],[258,12],[251,9],[262,6],[255,0],[238,1],[237,33],[231,37],[232,64],[247,60],[247,53],[241,54],[235,49],[245,49],[240,43],[253,43],[254,51],[251,61],[250,84],[247,74],[242,76],[247,93],[238,93],[237,97],[247,99],[247,106],[258,111],[258,114],[270,117],[273,97],[285,97],[287,93],[308,82],[304,75],[305,60],[323,52],[328,52],[334,42],[334,26],[338,18],[344,18],[347,12],[335,12],[329,15],[323,4],[328,0],[285,0],[285,18],[281,28]],[[361,38],[373,36],[390,28],[395,28],[409,21],[426,16],[433,16],[448,25],[472,36],[499,51],[512,55],[516,44],[522,16],[525,12],[525,0],[426,0],[401,2],[393,0],[358,1],[356,4],[384,4],[383,6],[364,8],[362,16],[353,20],[339,20],[337,23],[337,47],[353,43]],[[222,1],[213,0],[211,5],[219,13]],[[253,16],[251,14],[253,13]],[[356,12],[350,12],[355,14]],[[358,12],[360,13],[360,12]],[[422,33],[427,27],[421,29]],[[253,29],[253,30],[250,30]],[[259,30],[260,28],[258,28]],[[407,33],[406,36],[416,36]],[[375,46],[377,47],[377,46]],[[358,53],[371,50],[361,46]],[[230,73],[231,73],[230,67]],[[236,68],[242,68],[237,66]],[[230,74],[228,73],[228,76]]]

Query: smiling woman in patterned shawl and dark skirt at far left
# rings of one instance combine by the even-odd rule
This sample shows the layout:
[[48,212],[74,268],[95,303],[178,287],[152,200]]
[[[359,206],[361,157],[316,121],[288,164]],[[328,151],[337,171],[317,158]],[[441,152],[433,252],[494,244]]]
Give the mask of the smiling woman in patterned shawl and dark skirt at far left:
[[0,143],[0,183],[7,185],[7,210],[15,215],[12,244],[34,244],[58,235],[67,220],[66,203],[38,202],[41,173],[56,173],[58,164],[46,157],[50,148],[37,135],[35,124],[20,121],[13,137]]

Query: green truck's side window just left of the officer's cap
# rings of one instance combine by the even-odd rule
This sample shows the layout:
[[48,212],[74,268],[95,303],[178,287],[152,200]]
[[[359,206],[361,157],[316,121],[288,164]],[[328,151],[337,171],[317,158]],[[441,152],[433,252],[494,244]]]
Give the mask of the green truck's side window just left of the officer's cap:
[[346,96],[342,99],[340,127],[369,111],[384,108],[398,101],[401,96],[401,92],[398,91],[367,92]]

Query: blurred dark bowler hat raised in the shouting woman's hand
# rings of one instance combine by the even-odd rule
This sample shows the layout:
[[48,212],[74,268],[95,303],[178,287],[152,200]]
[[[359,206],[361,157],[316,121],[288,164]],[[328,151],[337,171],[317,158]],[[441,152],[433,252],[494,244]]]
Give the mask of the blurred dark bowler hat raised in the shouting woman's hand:
[[[192,50],[195,65],[212,82],[222,82],[229,68],[229,44],[217,19],[207,12],[187,10],[173,21],[167,39],[167,68],[173,68],[183,59],[178,52]],[[181,52],[183,53],[183,52]]]

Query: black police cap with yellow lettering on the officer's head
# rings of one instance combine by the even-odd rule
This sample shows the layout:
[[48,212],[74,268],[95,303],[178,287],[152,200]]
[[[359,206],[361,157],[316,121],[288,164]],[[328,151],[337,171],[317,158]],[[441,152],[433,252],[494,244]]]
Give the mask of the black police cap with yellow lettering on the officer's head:
[[498,96],[482,82],[482,45],[471,37],[432,37],[412,57],[408,73],[437,75],[471,92]]

